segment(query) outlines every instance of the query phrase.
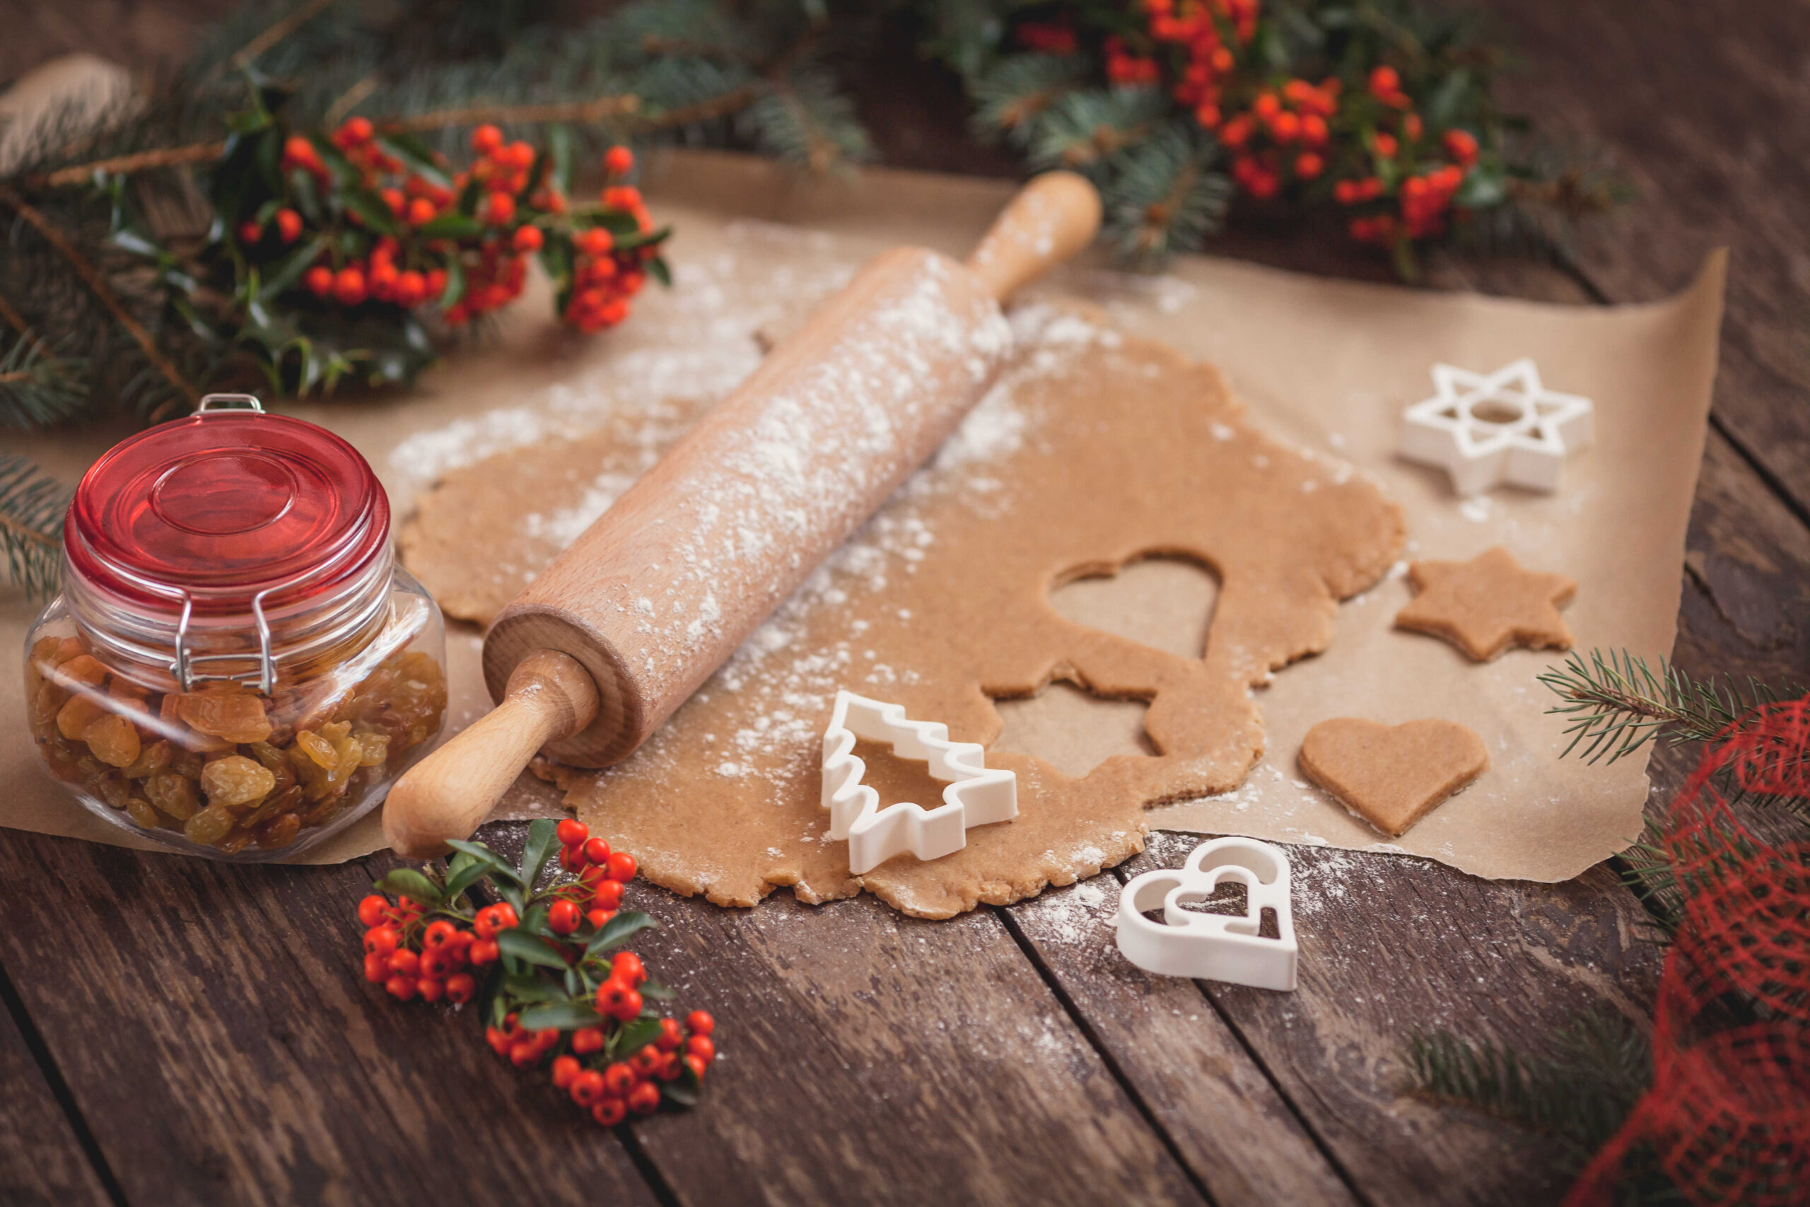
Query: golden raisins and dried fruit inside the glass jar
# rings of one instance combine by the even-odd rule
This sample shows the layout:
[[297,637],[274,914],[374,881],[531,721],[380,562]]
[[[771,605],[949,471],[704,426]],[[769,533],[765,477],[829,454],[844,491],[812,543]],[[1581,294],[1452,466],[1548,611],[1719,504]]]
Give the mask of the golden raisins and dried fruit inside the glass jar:
[[81,637],[25,661],[31,733],[51,773],[141,829],[233,854],[288,847],[389,778],[440,731],[447,680],[431,655],[391,653],[357,682],[272,695],[239,684],[150,691]]

